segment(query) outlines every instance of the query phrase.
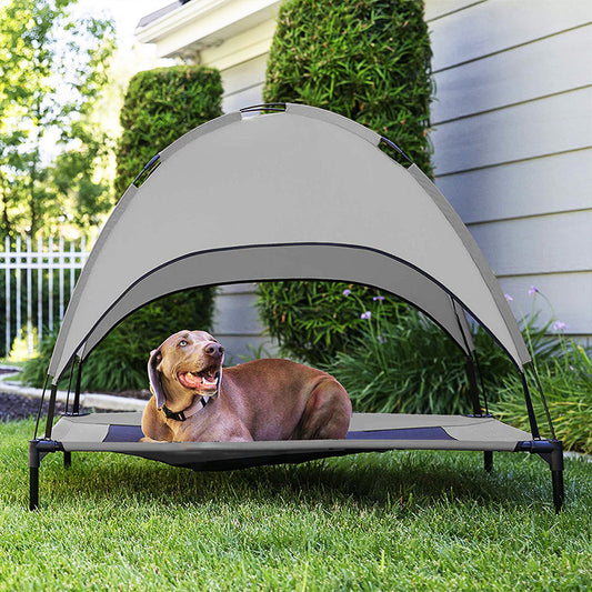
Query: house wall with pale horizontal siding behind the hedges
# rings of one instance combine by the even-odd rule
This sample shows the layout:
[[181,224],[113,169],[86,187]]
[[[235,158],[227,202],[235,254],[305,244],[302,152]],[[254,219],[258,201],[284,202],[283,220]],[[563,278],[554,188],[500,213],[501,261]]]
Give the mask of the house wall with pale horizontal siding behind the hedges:
[[[592,2],[427,0],[425,17],[437,184],[513,298],[515,315],[533,307],[552,314],[543,298],[528,294],[535,285],[569,333],[590,341]],[[273,30],[270,12],[201,51],[203,63],[221,69],[224,111],[261,102]],[[252,285],[222,289],[218,299],[218,333],[237,351],[261,342],[253,300]]]

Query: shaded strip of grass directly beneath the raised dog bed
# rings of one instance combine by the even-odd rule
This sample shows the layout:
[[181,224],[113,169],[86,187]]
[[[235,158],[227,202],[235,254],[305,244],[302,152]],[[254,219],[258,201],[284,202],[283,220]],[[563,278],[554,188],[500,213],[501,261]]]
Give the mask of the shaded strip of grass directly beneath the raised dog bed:
[[490,474],[482,453],[474,452],[362,453],[224,472],[194,472],[121,454],[72,456],[71,469],[59,466],[61,454],[42,463],[41,498],[53,499],[47,503],[82,496],[113,503],[293,503],[328,510],[348,504],[413,512],[451,502],[503,508],[552,502],[546,464],[524,454],[494,454],[496,466]]

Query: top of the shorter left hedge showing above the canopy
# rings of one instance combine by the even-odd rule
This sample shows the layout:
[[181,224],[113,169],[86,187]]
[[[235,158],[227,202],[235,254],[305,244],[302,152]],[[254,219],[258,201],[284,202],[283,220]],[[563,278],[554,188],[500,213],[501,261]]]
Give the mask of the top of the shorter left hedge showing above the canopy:
[[121,195],[144,164],[193,128],[222,114],[220,72],[201,66],[136,74],[121,110],[116,192]]

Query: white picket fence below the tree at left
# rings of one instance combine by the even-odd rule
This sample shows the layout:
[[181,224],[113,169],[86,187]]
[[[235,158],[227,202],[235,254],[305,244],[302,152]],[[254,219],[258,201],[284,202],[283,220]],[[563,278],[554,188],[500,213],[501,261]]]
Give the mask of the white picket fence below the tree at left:
[[30,238],[17,237],[13,247],[12,250],[7,237],[4,251],[0,251],[0,273],[4,270],[6,352],[8,355],[19,337],[26,340],[31,355],[34,332],[41,340],[46,329],[53,329],[63,319],[77,270],[84,267],[89,253],[83,238],[78,244],[62,237],[49,238],[47,242],[38,239],[33,245]]

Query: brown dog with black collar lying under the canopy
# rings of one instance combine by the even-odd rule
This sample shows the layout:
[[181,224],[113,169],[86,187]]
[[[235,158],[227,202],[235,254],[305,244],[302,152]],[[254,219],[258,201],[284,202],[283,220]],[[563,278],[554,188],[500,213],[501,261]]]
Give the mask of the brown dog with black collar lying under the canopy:
[[330,374],[278,359],[222,372],[223,358],[222,345],[204,331],[180,331],[151,352],[144,442],[345,437],[351,402]]

